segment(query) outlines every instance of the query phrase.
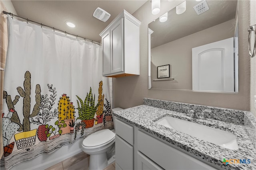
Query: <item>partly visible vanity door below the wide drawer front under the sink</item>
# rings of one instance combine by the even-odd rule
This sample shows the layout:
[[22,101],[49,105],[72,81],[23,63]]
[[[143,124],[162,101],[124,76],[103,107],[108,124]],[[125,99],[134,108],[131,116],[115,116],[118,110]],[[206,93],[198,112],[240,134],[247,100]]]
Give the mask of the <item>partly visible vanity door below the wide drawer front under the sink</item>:
[[163,170],[158,164],[151,161],[149,158],[138,152],[138,167],[137,170]]

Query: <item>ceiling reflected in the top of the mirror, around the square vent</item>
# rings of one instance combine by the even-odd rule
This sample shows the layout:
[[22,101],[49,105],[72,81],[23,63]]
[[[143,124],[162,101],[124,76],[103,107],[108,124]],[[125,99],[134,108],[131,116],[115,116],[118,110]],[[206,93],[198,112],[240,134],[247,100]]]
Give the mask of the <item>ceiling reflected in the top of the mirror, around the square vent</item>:
[[200,15],[197,15],[193,8],[200,2],[187,0],[186,11],[183,14],[177,15],[176,8],[173,8],[168,12],[166,22],[156,19],[149,23],[149,28],[154,31],[151,34],[151,48],[235,18],[237,0],[206,0],[206,2],[210,9]]

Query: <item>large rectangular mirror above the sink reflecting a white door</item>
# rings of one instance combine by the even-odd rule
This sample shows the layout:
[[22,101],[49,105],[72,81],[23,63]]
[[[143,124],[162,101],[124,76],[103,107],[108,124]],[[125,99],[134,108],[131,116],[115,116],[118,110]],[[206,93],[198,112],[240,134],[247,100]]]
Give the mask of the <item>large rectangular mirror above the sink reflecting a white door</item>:
[[[237,0],[187,0],[184,13],[149,23],[148,38],[149,89],[238,92]],[[157,78],[168,64],[170,78]]]

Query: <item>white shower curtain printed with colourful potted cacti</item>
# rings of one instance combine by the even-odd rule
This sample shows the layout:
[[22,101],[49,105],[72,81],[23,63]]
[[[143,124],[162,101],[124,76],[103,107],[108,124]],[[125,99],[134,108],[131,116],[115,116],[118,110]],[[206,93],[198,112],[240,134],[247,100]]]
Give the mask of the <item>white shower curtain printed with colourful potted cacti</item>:
[[101,57],[99,45],[8,16],[5,169],[113,128]]

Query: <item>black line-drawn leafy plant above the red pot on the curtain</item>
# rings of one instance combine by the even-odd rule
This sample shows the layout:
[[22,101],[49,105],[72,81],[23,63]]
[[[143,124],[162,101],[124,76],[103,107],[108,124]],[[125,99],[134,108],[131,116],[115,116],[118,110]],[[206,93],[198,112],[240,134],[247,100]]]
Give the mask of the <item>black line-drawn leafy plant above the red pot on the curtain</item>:
[[52,84],[47,84],[50,94],[50,98],[48,95],[42,95],[41,96],[41,102],[40,102],[40,111],[36,115],[36,118],[31,118],[31,123],[37,124],[37,125],[46,125],[48,121],[51,119],[54,119],[54,117],[58,116],[58,109],[52,110],[53,105],[55,104],[56,100],[56,88],[52,88]]

